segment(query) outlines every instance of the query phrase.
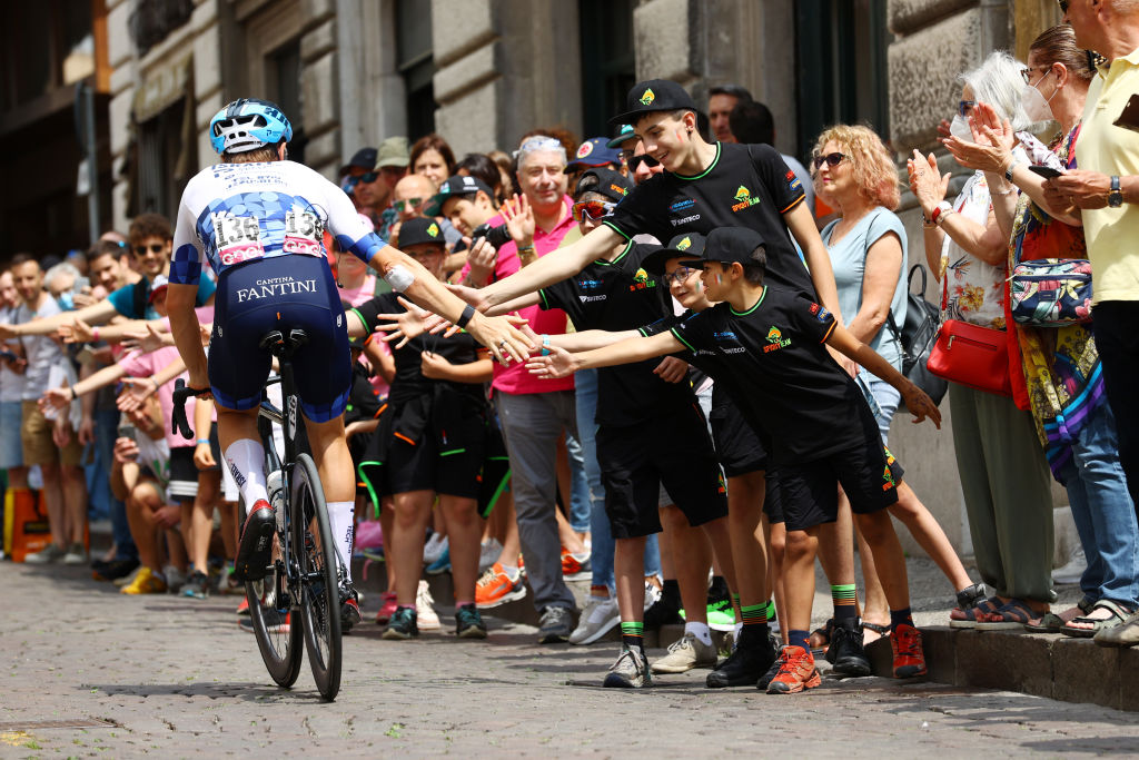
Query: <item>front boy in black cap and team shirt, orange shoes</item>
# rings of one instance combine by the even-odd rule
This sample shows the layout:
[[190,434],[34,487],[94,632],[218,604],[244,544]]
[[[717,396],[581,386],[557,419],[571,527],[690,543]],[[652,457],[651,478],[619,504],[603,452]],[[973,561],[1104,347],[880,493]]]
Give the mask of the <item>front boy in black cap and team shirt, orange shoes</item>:
[[688,265],[703,270],[707,297],[721,303],[666,333],[580,354],[555,349],[550,356],[532,358],[530,366],[539,375],[557,377],[584,367],[645,361],[678,351],[707,352],[718,385],[731,394],[747,422],[773,442],[768,498],[778,500],[787,524],[790,631],[768,693],[795,693],[820,683],[806,629],[818,539],[835,530],[839,484],[883,575],[891,606],[894,675],[925,673],[920,634],[910,618],[906,562],[886,512],[898,500],[895,475],[865,398],[830,360],[823,344],[894,385],[917,422],[929,417],[940,427],[937,408],[810,295],[764,286],[764,243],[756,232],[716,230],[708,236],[703,258]]

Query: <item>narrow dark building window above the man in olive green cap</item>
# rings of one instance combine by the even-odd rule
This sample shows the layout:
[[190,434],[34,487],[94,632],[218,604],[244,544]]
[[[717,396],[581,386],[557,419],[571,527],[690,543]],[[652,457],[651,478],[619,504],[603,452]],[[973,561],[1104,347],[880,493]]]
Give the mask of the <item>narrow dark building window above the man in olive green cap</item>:
[[435,131],[435,58],[432,55],[431,5],[399,0],[395,6],[395,67],[407,92],[408,137]]

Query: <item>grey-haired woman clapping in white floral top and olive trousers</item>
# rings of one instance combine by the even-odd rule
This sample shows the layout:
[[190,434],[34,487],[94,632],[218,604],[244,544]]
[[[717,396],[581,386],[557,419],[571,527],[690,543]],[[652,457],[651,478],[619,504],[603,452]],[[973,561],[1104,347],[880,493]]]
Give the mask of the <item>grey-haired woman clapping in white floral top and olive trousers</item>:
[[[1008,54],[994,52],[961,75],[954,138],[964,140],[968,132],[972,141],[965,119],[977,101],[992,106],[1017,130],[1031,125],[1021,105],[1023,68]],[[1026,162],[1023,148],[1014,155]],[[944,278],[948,317],[1003,330],[1008,235],[1001,231],[991,201],[1013,190],[990,190],[984,172],[977,171],[957,199],[947,203],[949,177],[941,175],[933,154],[925,157],[916,150],[909,175],[925,218],[926,261],[939,280]],[[995,593],[973,610],[954,610],[950,626],[1019,627],[1047,613],[1055,598],[1048,464],[1032,416],[1013,399],[950,383],[949,400],[977,570]]]

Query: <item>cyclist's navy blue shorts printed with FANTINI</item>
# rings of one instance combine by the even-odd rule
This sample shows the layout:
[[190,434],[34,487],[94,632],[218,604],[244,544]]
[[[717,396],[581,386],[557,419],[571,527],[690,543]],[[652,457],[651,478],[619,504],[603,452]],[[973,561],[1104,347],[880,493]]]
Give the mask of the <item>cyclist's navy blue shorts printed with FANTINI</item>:
[[301,328],[309,342],[293,354],[293,377],[304,416],[317,423],[347,406],[352,358],[344,308],[325,259],[259,259],[222,272],[210,338],[210,386],[227,409],[261,403],[271,357],[265,333]]

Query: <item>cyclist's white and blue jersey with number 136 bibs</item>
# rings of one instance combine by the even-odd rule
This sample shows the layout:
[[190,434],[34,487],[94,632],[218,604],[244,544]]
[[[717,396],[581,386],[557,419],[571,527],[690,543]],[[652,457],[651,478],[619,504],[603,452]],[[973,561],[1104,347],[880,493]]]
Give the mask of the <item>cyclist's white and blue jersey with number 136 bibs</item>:
[[[195,284],[203,258],[219,278],[232,267],[286,255],[327,258],[323,231],[364,262],[385,245],[344,191],[292,161],[215,164],[186,186],[170,281]],[[287,271],[287,263],[280,262]],[[281,286],[284,287],[284,286]]]

